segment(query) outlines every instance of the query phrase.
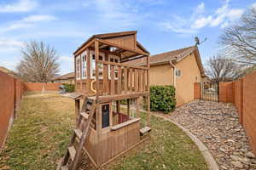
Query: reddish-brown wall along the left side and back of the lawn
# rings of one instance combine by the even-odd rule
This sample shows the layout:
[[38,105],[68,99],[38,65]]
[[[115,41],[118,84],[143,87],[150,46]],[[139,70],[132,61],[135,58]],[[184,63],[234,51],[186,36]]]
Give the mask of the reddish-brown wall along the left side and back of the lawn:
[[0,71],[0,151],[25,91],[58,90],[61,83],[21,82]]

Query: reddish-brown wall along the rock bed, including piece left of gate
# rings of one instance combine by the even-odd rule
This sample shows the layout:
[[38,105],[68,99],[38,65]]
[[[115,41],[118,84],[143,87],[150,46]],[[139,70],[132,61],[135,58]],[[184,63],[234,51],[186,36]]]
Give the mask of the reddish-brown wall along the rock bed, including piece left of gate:
[[[195,99],[201,99],[200,85],[195,83]],[[256,154],[256,71],[236,82],[219,82],[219,101],[234,103],[239,122],[245,128]]]

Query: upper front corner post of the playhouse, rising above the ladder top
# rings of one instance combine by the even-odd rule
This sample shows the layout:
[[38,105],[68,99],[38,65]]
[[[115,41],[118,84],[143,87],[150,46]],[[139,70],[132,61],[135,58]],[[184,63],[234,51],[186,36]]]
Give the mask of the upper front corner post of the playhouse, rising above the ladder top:
[[98,65],[98,61],[99,61],[99,42],[96,39],[95,41],[95,69],[96,69],[96,103],[99,99],[99,65]]

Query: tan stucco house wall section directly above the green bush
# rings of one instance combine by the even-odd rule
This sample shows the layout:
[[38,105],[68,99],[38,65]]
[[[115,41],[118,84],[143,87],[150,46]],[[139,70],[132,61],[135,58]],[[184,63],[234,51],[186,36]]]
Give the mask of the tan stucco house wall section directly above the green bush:
[[173,85],[172,65],[150,66],[149,84],[150,85]]

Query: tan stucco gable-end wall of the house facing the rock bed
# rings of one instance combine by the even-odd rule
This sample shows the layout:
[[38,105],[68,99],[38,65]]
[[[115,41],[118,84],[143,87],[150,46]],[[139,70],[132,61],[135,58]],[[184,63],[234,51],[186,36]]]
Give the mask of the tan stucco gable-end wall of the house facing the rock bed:
[[195,54],[189,54],[177,62],[176,68],[181,71],[181,77],[176,77],[176,99],[179,106],[194,99],[194,82],[201,82],[201,73]]

